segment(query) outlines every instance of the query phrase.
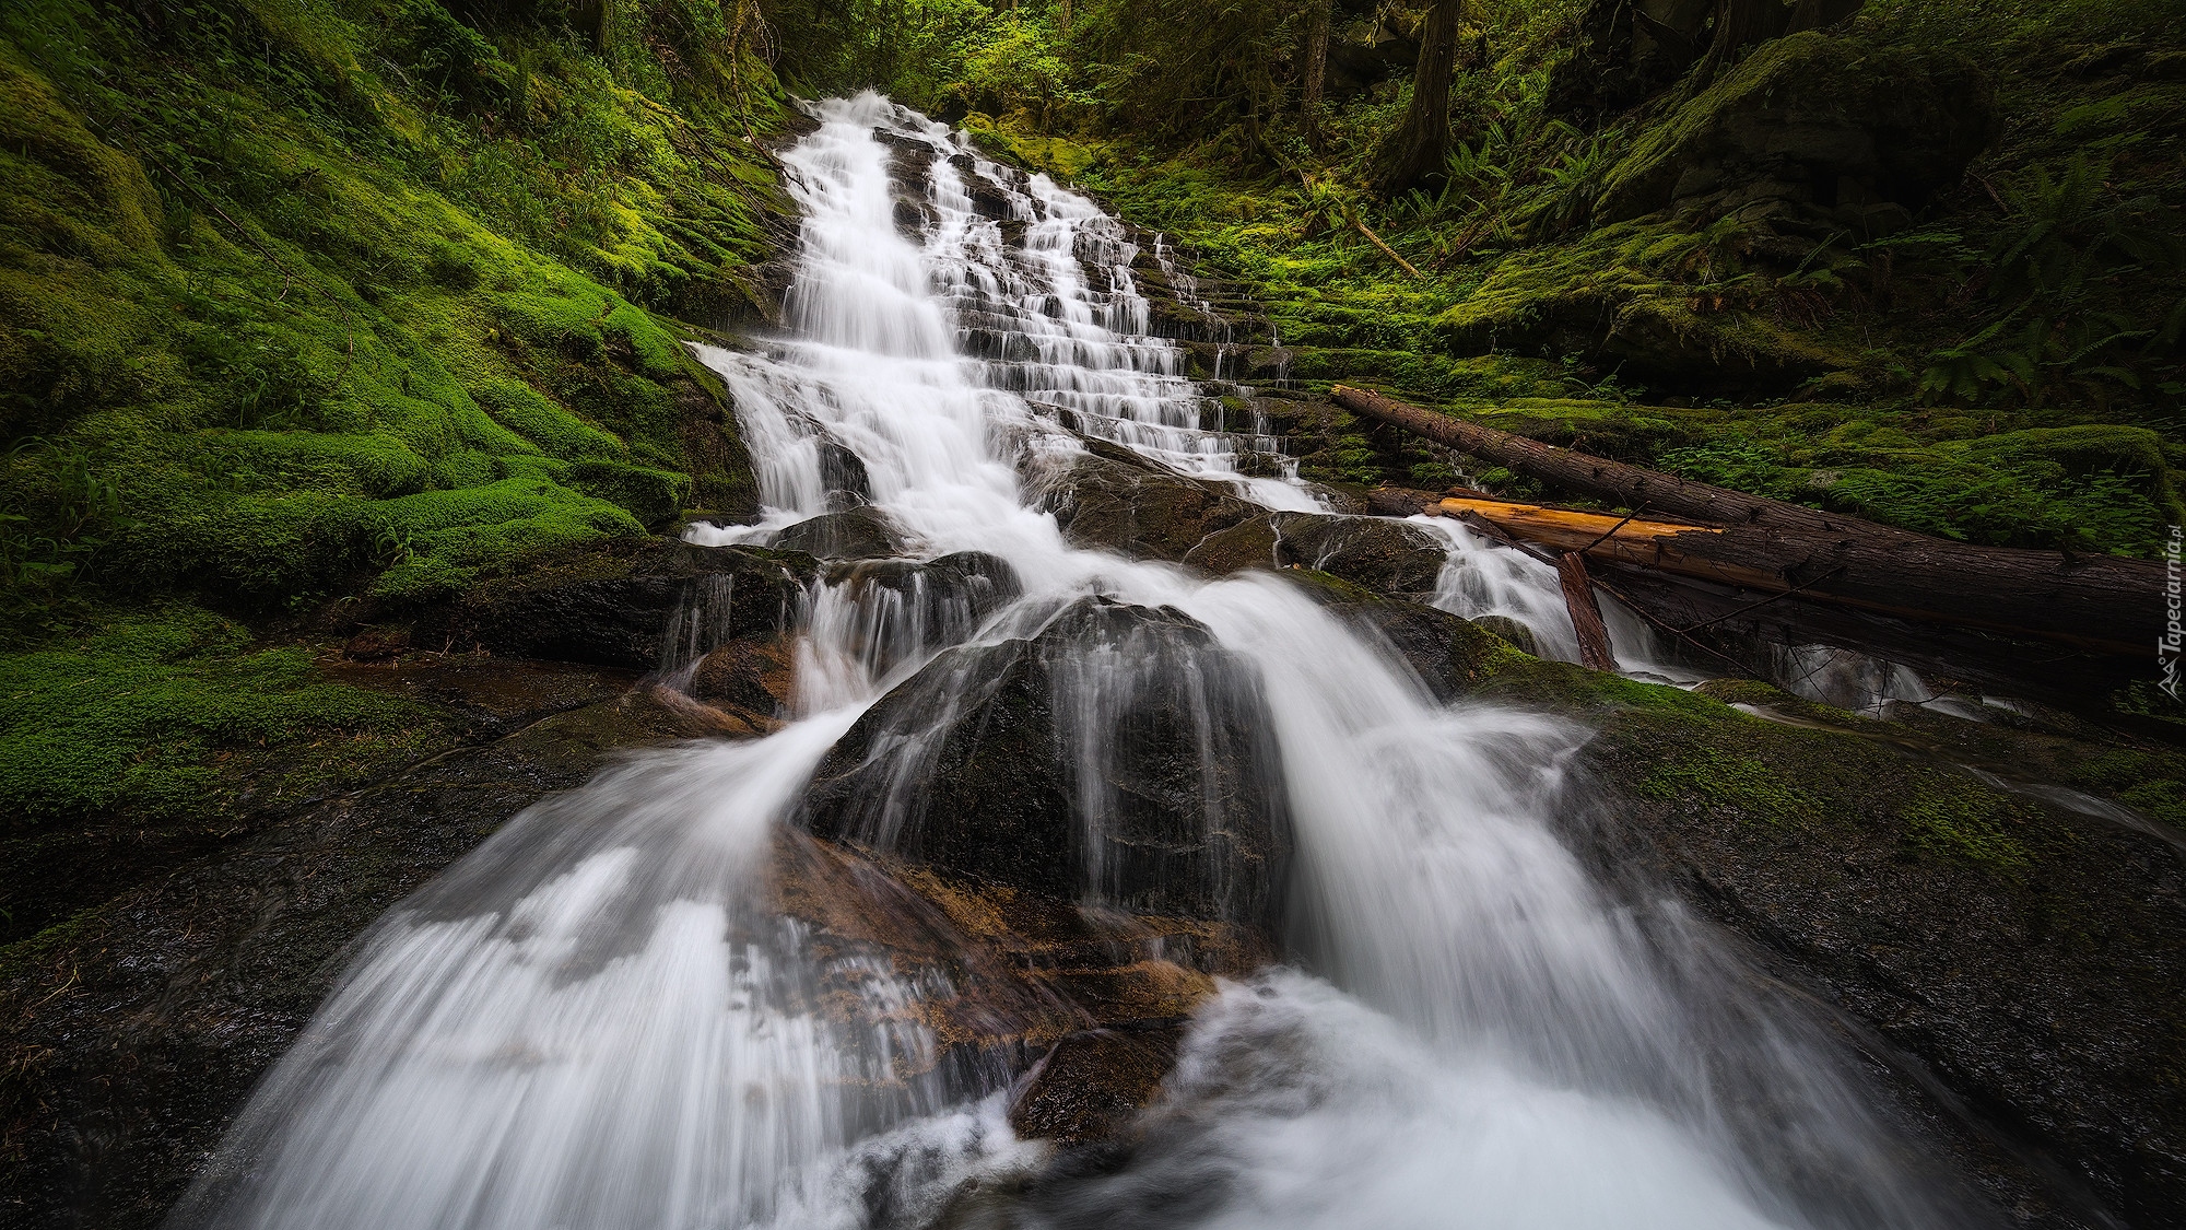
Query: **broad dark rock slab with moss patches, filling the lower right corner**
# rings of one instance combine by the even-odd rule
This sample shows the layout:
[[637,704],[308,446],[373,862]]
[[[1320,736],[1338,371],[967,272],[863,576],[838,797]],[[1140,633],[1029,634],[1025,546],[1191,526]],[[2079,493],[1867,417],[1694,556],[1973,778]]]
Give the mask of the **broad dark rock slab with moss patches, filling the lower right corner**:
[[1950,746],[1740,692],[1768,696],[1803,724],[1668,705],[1605,720],[1580,755],[1615,799],[1594,834],[1605,873],[1670,884],[1747,937],[1869,1031],[1911,1103],[1943,1090],[1919,1114],[2013,1221],[2186,1226],[2179,838],[1963,768],[2057,773],[2090,744],[1937,718]]

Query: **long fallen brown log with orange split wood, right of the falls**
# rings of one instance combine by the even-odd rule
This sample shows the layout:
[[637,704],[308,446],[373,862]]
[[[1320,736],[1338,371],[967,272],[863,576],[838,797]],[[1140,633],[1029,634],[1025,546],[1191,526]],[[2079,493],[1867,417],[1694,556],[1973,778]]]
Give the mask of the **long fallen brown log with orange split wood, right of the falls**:
[[[1642,466],[1591,457],[1493,427],[1462,422],[1382,394],[1338,385],[1336,405],[1543,484],[1615,501],[1690,525],[1631,521],[1585,554],[1674,571],[1762,595],[1799,593],[1900,619],[1981,628],[2105,654],[2147,654],[2164,628],[2164,565],[2118,556],[1976,547],[1801,508],[1758,495],[1683,481]],[[1445,501],[1447,503],[1447,501]],[[1493,501],[1489,501],[1493,503]],[[1539,506],[1532,506],[1539,508]],[[1486,519],[1480,510],[1467,510]],[[1618,519],[1602,514],[1596,532]],[[1506,532],[1578,549],[1589,525],[1513,514]],[[1642,530],[1633,527],[1640,525]]]

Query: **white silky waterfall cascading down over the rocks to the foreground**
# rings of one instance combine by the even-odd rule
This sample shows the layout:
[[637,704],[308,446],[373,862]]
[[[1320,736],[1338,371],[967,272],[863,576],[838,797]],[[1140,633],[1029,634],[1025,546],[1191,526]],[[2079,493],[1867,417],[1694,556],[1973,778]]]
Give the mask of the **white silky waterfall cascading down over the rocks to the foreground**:
[[[1014,1223],[1950,1221],[1758,980],[1723,976],[1674,910],[1620,904],[1565,845],[1585,731],[1441,707],[1281,578],[1073,549],[1025,497],[1027,475],[1082,451],[1078,431],[1270,508],[1323,508],[1294,477],[1242,473],[1274,442],[1211,429],[1178,348],[1148,333],[1119,223],[883,98],[818,118],[785,155],[804,206],[789,328],[763,352],[702,350],[767,512],[693,538],[772,541],[839,510],[859,471],[912,556],[988,552],[1023,595],[973,630],[822,587],[787,729],[630,762],[404,902],[177,1223],[916,1226],[964,1182],[1036,1169],[999,1092],[925,1075],[933,1037],[903,1009],[933,987],[859,970],[881,1024],[818,1011],[842,972],[767,913],[763,878],[769,832],[859,711],[949,639],[1030,635],[1082,595],[1174,606],[1257,674],[1298,845],[1296,967],[1226,985],[1132,1156],[1038,1184]],[[896,225],[905,193],[916,236]],[[1452,543],[1443,604],[1563,646],[1552,576],[1434,532]],[[1198,670],[1178,661],[1161,670]]]

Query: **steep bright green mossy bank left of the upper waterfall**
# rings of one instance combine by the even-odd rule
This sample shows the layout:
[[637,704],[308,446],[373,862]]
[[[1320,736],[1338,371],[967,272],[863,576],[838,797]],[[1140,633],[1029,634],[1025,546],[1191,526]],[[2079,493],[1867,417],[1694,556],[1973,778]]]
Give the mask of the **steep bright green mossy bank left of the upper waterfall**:
[[13,643],[122,595],[426,597],[750,499],[680,337],[761,293],[772,74],[717,7],[481,13],[0,20]]

